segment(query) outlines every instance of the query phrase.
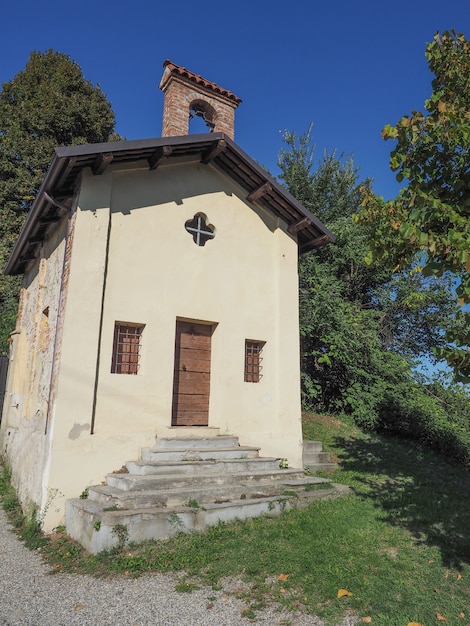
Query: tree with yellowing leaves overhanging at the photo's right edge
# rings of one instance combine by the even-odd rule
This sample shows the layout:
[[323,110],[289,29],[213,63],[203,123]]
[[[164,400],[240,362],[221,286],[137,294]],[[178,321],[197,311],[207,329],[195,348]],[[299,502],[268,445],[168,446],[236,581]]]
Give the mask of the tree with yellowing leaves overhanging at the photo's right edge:
[[369,261],[401,268],[420,253],[426,276],[450,273],[463,309],[439,354],[458,380],[470,381],[470,43],[437,33],[426,48],[434,74],[425,112],[387,125],[396,141],[390,167],[407,187],[384,202],[364,189],[357,220],[371,227]]

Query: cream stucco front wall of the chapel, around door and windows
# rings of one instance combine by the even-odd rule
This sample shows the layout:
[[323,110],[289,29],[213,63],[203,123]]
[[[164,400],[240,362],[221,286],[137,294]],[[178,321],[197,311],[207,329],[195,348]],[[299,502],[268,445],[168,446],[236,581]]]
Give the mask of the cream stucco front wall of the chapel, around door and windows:
[[[156,435],[182,432],[169,428],[177,319],[216,325],[209,426],[301,467],[297,245],[285,224],[245,196],[199,163],[84,173],[53,440],[39,462],[38,502],[59,494],[46,529],[61,523],[65,498],[138,458]],[[204,247],[184,228],[198,212],[216,232]],[[110,373],[115,321],[145,324],[138,375]],[[266,342],[259,383],[243,380],[245,339]]]

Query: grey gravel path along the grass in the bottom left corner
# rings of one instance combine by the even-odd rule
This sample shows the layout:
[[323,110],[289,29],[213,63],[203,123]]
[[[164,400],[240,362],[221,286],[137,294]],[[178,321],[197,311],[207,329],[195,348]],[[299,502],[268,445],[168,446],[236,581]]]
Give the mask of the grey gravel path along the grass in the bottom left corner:
[[[39,554],[16,538],[0,506],[1,626],[240,626],[246,605],[224,591],[175,591],[168,574],[137,579],[97,580],[75,574],[50,575]],[[233,582],[232,582],[233,584]],[[275,607],[257,624],[321,626],[308,615],[282,614]],[[341,626],[353,626],[346,619]]]

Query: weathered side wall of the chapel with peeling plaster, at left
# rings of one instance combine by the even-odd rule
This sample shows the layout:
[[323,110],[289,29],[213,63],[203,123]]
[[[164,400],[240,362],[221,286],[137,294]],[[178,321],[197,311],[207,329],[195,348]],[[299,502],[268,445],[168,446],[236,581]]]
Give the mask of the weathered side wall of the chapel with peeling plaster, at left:
[[0,430],[1,450],[12,467],[20,500],[39,508],[44,504],[46,422],[66,229],[64,218],[23,279]]

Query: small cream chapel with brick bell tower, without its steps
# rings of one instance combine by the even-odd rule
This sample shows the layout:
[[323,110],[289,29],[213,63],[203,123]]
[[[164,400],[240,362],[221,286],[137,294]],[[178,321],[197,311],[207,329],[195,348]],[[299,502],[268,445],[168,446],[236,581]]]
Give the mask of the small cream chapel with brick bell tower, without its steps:
[[155,438],[302,467],[297,262],[334,236],[235,143],[240,98],[171,61],[160,88],[160,138],[55,150],[5,268],[0,451],[46,531]]

